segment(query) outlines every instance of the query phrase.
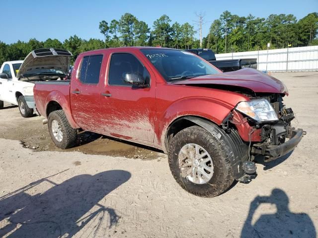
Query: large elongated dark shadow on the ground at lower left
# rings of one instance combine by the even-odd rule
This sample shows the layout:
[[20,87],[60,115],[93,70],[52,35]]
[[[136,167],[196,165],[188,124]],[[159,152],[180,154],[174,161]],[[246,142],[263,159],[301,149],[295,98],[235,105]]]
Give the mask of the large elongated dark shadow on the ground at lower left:
[[[130,179],[129,172],[112,170],[94,176],[79,175],[61,184],[50,177],[0,197],[0,237],[72,237],[92,220],[95,222],[92,233],[98,231],[102,222],[108,221],[109,228],[116,225],[120,218],[116,211],[98,202]],[[44,181],[53,187],[42,194],[27,193]]]

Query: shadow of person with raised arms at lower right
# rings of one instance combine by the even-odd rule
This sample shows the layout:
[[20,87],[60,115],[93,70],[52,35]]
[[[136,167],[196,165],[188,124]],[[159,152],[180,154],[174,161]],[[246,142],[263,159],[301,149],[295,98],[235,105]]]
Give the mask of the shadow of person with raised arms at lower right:
[[[262,214],[252,224],[253,215],[261,203],[274,204],[277,211],[274,214]],[[275,188],[270,196],[257,196],[251,202],[240,237],[314,238],[316,237],[316,230],[309,215],[306,213],[292,213],[289,210],[287,194],[283,190]]]

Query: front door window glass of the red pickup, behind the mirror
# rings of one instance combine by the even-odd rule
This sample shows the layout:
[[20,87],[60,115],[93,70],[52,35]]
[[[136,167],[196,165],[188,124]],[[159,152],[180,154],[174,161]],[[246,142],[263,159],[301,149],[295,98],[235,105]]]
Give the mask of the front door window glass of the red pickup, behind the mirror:
[[131,84],[124,82],[124,73],[139,73],[150,83],[148,70],[135,56],[128,53],[113,54],[110,60],[108,84],[131,86]]

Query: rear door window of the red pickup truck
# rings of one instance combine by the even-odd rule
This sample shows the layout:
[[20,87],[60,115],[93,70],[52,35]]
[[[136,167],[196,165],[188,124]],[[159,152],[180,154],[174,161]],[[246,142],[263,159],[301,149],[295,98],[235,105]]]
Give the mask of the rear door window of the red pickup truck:
[[97,84],[102,60],[102,55],[83,57],[79,71],[79,81],[87,84]]

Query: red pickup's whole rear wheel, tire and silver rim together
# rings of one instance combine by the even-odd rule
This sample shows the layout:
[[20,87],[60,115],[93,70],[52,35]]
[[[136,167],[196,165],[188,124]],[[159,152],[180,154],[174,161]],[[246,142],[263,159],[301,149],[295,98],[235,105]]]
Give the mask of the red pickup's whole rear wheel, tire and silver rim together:
[[48,127],[50,136],[57,147],[66,149],[76,145],[77,129],[72,128],[63,110],[50,113]]

